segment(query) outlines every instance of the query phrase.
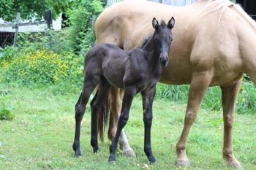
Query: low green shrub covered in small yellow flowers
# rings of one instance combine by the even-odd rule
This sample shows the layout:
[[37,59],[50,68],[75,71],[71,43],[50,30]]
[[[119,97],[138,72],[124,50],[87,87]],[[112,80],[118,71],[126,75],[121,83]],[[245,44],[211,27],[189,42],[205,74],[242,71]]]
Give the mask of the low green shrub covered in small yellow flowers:
[[2,82],[22,85],[53,84],[61,80],[80,82],[83,60],[72,53],[57,54],[47,50],[27,53],[20,50],[12,58],[1,61]]

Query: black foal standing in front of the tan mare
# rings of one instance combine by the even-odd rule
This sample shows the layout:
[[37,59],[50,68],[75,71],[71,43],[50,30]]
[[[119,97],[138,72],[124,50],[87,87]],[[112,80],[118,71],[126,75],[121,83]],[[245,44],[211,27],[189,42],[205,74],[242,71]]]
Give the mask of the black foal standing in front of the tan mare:
[[153,18],[154,34],[143,43],[142,47],[125,51],[115,45],[101,44],[92,48],[84,62],[83,90],[75,105],[75,139],[73,149],[78,157],[80,153],[80,123],[86,104],[94,88],[99,84],[99,91],[91,104],[91,145],[98,150],[97,111],[102,101],[108,97],[111,85],[124,88],[121,115],[118,119],[116,136],[110,145],[111,163],[116,162],[116,149],[122,128],[129,118],[129,109],[136,93],[143,96],[143,121],[145,127],[144,151],[151,163],[156,162],[151,152],[152,104],[156,84],[162,74],[162,66],[167,66],[168,52],[173,40],[171,29],[175,23],[171,18],[167,25],[160,24]]

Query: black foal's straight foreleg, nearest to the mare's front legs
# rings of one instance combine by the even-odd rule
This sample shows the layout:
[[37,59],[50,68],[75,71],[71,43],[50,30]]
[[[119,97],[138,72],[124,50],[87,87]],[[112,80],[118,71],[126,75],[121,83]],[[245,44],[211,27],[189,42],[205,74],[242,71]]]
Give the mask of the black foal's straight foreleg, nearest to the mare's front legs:
[[152,105],[154,96],[156,93],[156,87],[151,90],[143,91],[143,122],[144,122],[144,152],[148,157],[148,161],[156,163],[151,151],[151,125],[153,119]]

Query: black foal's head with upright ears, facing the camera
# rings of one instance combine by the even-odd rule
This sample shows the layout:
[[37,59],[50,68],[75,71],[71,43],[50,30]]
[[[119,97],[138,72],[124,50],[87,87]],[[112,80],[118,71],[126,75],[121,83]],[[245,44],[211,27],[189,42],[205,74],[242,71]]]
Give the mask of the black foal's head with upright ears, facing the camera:
[[156,18],[153,18],[152,20],[152,25],[155,29],[153,34],[154,46],[157,49],[162,66],[167,66],[169,61],[168,53],[170,50],[170,44],[173,41],[173,34],[171,30],[174,24],[175,20],[173,17],[168,21],[167,24],[163,20],[159,24]]

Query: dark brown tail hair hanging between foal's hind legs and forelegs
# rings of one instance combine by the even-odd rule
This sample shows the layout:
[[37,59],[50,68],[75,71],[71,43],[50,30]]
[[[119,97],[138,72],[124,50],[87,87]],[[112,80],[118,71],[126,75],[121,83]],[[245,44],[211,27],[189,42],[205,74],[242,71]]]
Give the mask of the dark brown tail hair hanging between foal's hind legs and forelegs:
[[[97,98],[99,90],[95,94],[94,98],[91,101],[91,104],[94,103],[95,99]],[[108,97],[102,102],[101,106],[98,109],[97,113],[97,129],[99,134],[99,139],[103,142],[104,141],[104,132],[106,125],[108,123],[108,113],[109,113],[109,104],[108,104]]]

